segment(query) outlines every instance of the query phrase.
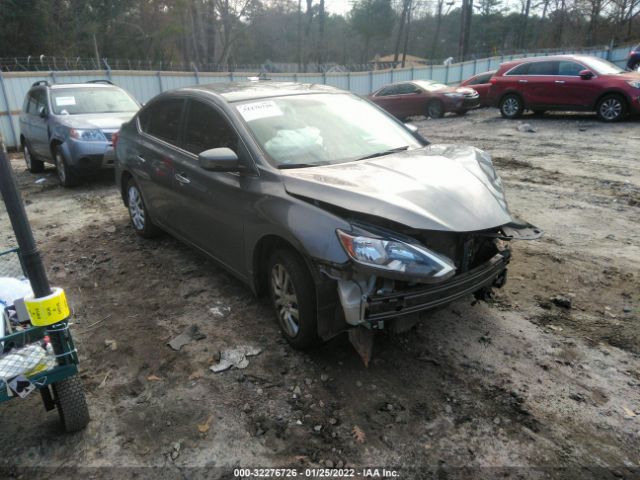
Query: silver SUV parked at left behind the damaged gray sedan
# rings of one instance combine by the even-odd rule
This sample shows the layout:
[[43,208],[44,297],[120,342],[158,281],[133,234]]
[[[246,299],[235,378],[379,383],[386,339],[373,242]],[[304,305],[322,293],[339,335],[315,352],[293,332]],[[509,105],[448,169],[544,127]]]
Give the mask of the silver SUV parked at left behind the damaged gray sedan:
[[20,143],[27,168],[42,172],[56,166],[63,187],[79,177],[113,168],[112,135],[140,104],[106,80],[51,85],[34,83],[20,115]]

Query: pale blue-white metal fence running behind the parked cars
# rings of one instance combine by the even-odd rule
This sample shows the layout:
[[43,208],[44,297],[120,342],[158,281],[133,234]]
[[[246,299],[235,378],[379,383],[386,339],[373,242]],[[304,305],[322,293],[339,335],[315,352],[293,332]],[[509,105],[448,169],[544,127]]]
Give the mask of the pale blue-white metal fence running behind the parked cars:
[[[567,50],[558,53],[574,53]],[[626,64],[629,47],[611,50],[581,50],[580,53],[607,58],[617,65]],[[538,56],[539,53],[505,55],[481,60],[471,60],[451,65],[374,70],[369,72],[340,73],[273,73],[276,81],[305,82],[332,85],[359,95],[367,95],[383,85],[404,80],[436,80],[446,84],[459,83],[477,73],[493,70],[505,61],[522,57]],[[110,80],[131,92],[140,102],[147,102],[157,94],[173,88],[207,83],[222,83],[246,80],[247,73],[204,73],[204,72],[150,72],[132,70],[94,70],[61,72],[0,72],[0,135],[7,147],[20,145],[18,118],[24,96],[31,85],[38,80],[51,83],[86,82],[87,80]]]

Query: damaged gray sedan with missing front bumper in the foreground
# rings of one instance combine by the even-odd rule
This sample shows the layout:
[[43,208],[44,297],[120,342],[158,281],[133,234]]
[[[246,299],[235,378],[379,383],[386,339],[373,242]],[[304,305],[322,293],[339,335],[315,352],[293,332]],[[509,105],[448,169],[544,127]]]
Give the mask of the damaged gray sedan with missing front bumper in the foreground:
[[114,138],[134,229],[164,230],[271,296],[307,348],[373,332],[506,280],[509,241],[541,235],[508,210],[490,156],[432,145],[331,87],[182,88]]

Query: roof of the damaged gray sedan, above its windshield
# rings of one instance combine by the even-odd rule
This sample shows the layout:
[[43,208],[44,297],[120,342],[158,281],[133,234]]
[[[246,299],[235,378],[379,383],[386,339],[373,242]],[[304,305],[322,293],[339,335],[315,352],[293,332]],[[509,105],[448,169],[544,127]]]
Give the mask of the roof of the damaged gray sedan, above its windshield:
[[242,102],[260,98],[284,97],[290,95],[305,95],[312,93],[348,93],[329,85],[295,82],[273,82],[259,80],[253,82],[212,83],[182,87],[172,92],[189,92],[214,94],[227,102]]

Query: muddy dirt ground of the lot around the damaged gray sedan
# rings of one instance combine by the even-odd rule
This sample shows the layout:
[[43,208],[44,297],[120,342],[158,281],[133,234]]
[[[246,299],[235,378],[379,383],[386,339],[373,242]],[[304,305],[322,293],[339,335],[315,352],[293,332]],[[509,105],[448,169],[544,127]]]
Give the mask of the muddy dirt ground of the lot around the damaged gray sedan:
[[[344,337],[291,349],[232,276],[168,236],[139,239],[109,175],[64,190],[13,154],[52,283],[73,307],[92,421],[65,435],[38,395],[2,405],[0,476],[293,466],[640,478],[640,122],[495,110],[414,121],[434,143],[490,152],[512,211],[545,236],[513,245],[492,303],[469,297],[380,336],[368,368]],[[6,218],[0,227],[6,242]],[[191,325],[206,338],[167,346]],[[244,370],[209,370],[239,345],[262,353]]]

